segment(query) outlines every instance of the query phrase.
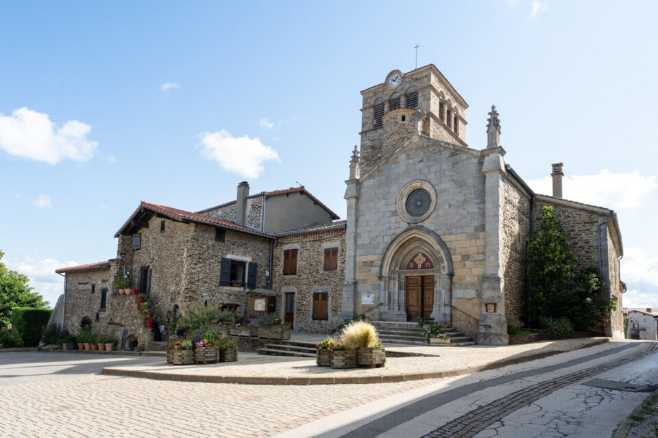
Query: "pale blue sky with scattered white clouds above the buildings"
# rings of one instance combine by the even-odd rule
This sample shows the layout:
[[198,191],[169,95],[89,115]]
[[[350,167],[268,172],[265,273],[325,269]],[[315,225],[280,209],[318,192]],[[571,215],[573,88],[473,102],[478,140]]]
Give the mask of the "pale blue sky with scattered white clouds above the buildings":
[[[658,307],[658,2],[4,2],[0,249],[54,302],[55,268],[116,255],[142,200],[198,210],[306,186],[344,217],[361,90],[433,63],[486,146],[550,194],[618,211],[624,306]],[[230,151],[229,153],[226,153]]]

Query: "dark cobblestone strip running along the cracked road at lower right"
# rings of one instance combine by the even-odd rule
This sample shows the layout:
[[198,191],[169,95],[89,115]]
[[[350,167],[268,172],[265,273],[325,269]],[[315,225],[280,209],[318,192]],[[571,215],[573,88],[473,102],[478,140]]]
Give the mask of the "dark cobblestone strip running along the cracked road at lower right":
[[[553,378],[549,381],[531,385],[520,391],[515,391],[508,396],[500,398],[493,403],[478,407],[466,415],[462,415],[444,426],[433,430],[431,433],[424,435],[424,438],[452,437],[466,438],[474,437],[480,431],[485,430],[488,426],[500,422],[503,417],[511,414],[517,409],[526,407],[539,398],[544,398],[558,389],[572,385],[585,378],[596,376],[613,368],[620,367],[626,363],[643,359],[644,357],[655,355],[658,352],[658,344],[654,344],[648,350],[636,352],[622,359],[596,365],[578,372],[573,372],[565,376]],[[574,431],[575,432],[575,431]]]

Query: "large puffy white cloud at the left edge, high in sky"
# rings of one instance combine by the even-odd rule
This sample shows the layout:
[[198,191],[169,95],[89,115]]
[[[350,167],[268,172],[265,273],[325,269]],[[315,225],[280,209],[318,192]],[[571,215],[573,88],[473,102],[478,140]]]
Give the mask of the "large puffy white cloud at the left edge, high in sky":
[[11,116],[0,114],[0,149],[14,157],[57,164],[62,159],[86,162],[97,142],[87,138],[91,127],[78,120],[64,125],[51,122],[48,114],[25,107]]

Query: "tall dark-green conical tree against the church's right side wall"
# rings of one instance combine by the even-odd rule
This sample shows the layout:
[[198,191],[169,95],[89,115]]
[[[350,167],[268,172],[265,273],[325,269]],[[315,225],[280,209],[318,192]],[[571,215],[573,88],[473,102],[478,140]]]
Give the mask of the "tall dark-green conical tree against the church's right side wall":
[[553,216],[552,207],[541,211],[539,233],[528,245],[526,273],[533,325],[541,318],[563,316],[560,309],[576,304],[570,283],[578,258],[569,249],[569,240],[561,220]]

